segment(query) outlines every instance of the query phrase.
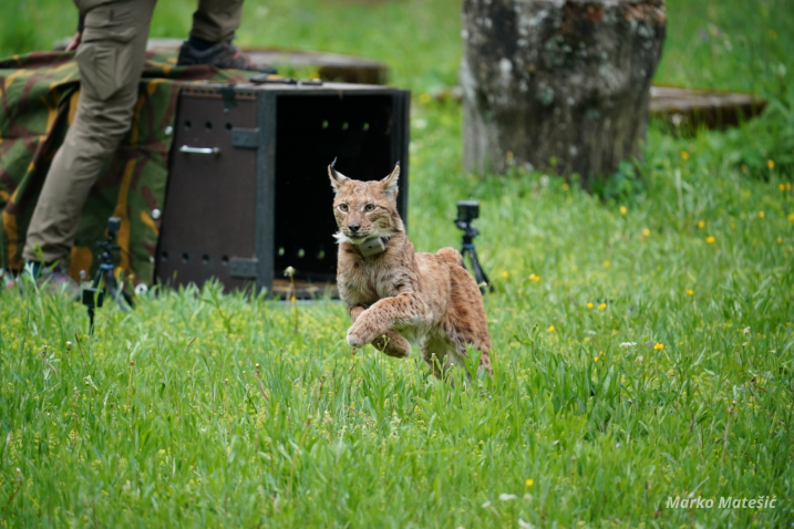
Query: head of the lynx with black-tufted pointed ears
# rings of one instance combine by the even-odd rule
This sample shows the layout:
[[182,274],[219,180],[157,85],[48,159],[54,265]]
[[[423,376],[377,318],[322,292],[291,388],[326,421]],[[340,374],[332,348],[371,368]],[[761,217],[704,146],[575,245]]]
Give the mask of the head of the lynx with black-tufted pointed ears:
[[336,197],[333,215],[340,242],[361,242],[375,237],[391,237],[405,228],[396,210],[398,178],[400,163],[382,180],[361,181],[348,178],[333,168],[334,159],[328,166],[328,176]]

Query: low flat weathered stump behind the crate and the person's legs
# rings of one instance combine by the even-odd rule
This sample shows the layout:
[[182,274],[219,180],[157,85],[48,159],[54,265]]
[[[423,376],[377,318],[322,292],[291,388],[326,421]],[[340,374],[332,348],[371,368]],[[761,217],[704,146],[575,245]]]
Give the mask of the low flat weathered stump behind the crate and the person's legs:
[[[72,38],[61,39],[53,44],[54,50],[65,50]],[[149,39],[147,50],[179,49],[183,39]],[[360,84],[386,84],[389,66],[380,61],[340,53],[323,51],[289,50],[289,49],[245,49],[254,64],[271,64],[278,66],[308,68],[317,70],[323,81],[340,81]]]

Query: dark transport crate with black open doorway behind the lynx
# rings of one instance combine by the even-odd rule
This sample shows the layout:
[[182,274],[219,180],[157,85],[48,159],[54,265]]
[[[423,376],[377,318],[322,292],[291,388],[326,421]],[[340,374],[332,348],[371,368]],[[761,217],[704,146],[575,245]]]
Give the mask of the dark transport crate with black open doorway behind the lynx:
[[333,289],[328,165],[384,178],[400,162],[408,210],[410,93],[388,86],[190,84],[182,89],[156,253],[156,281],[298,298]]

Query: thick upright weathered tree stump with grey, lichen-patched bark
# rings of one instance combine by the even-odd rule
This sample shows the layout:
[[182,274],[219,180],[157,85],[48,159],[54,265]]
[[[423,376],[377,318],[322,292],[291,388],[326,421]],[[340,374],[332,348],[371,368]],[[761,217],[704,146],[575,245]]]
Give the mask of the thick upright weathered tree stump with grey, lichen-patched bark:
[[464,168],[594,178],[640,155],[663,0],[465,0]]

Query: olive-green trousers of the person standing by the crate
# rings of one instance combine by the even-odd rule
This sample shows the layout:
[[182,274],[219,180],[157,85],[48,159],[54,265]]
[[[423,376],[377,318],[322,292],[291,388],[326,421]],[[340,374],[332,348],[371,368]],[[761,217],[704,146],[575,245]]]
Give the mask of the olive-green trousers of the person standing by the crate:
[[[52,160],[28,228],[25,260],[69,263],[80,211],[105,162],[132,126],[156,0],[74,0],[85,14],[75,59],[78,111]],[[243,0],[199,0],[190,34],[231,40]]]

